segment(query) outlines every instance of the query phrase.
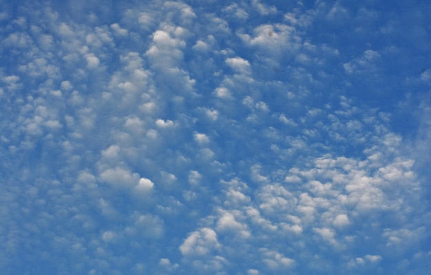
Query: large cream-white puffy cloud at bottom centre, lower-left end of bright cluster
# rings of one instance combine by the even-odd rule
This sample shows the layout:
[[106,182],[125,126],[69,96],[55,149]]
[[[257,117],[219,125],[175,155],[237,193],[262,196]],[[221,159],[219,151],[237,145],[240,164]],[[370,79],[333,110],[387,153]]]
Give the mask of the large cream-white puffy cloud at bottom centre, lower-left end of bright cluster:
[[204,227],[191,233],[180,245],[180,251],[184,256],[204,256],[220,247],[215,231]]

